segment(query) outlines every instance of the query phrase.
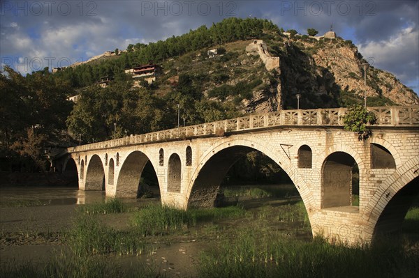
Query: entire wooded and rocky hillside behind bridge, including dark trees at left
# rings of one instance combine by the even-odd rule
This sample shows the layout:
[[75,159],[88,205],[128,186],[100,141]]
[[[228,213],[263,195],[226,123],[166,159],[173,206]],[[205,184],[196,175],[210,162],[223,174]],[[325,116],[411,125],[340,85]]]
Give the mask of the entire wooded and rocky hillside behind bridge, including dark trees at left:
[[[311,30],[311,33],[313,30]],[[314,32],[315,33],[315,32]],[[268,71],[258,55],[246,52],[263,40],[279,67]],[[217,49],[218,55],[207,56]],[[193,125],[253,112],[346,107],[362,103],[361,64],[350,40],[298,35],[268,20],[228,18],[182,36],[148,45],[128,45],[118,55],[64,68],[47,68],[22,77],[10,68],[0,74],[1,157],[45,161],[48,146],[103,141]],[[124,70],[146,63],[162,66],[156,82],[134,86]],[[96,82],[113,77],[110,86]],[[77,104],[66,101],[81,95]],[[419,104],[418,96],[393,75],[373,66],[367,71],[369,106]],[[69,139],[68,134],[73,137]],[[35,151],[36,150],[36,151]]]

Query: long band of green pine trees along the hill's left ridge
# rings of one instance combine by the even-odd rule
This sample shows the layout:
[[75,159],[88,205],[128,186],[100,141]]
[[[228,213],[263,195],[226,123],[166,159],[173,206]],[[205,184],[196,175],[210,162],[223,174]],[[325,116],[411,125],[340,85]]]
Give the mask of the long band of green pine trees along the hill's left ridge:
[[[115,59],[105,59],[101,63],[87,63],[75,68],[66,68],[54,74],[54,77],[71,80],[73,86],[80,88],[94,84],[98,77],[104,76],[99,72],[107,72],[105,75],[110,75],[110,72],[112,72],[115,77],[119,74],[119,71],[135,65],[150,62],[159,63],[170,57],[181,56],[205,47],[216,47],[216,45],[235,40],[260,38],[267,32],[279,33],[279,28],[269,20],[256,18],[243,20],[230,17],[212,24],[210,28],[200,26],[198,29],[191,30],[182,36],[172,36],[164,41],[161,40],[148,45],[137,43],[133,45],[135,51],[130,50],[131,45],[128,45],[128,52],[123,54],[119,52],[119,49],[115,49],[117,54]],[[99,70],[100,68],[105,68],[105,70]]]

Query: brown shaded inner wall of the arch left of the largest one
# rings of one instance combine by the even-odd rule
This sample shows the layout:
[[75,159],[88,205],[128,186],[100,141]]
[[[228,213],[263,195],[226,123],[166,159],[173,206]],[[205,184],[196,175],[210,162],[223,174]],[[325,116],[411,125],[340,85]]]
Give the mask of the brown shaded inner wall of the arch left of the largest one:
[[120,198],[136,198],[140,190],[140,179],[145,165],[154,165],[145,153],[135,150],[126,157],[117,178],[117,190],[115,196]]

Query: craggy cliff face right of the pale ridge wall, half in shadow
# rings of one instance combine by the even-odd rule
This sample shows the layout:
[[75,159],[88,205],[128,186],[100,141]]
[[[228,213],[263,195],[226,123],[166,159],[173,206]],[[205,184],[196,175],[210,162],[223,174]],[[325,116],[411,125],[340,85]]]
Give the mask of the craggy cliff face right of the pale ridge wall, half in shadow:
[[[309,36],[273,42],[280,57],[281,107],[295,107],[295,94],[303,108],[346,106],[364,94],[365,59],[349,40],[316,40]],[[419,98],[389,72],[371,65],[367,69],[369,105],[418,105]]]

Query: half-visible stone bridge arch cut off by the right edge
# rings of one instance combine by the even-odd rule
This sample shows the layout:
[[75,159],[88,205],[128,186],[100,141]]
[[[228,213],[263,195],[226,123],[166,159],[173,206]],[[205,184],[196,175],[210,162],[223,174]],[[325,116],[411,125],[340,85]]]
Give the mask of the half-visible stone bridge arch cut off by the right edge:
[[405,162],[369,199],[366,213],[372,236],[400,229],[411,200],[419,194],[419,157]]

